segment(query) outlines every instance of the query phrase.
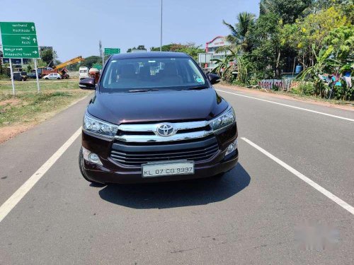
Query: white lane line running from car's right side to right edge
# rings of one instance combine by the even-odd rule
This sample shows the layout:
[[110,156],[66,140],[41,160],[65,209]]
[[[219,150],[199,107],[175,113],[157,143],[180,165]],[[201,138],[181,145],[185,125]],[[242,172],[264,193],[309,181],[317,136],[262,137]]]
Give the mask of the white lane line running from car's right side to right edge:
[[314,189],[316,189],[319,192],[321,192],[321,194],[324,194],[324,196],[327,196],[329,199],[334,201],[336,204],[338,204],[342,208],[345,208],[349,213],[354,215],[354,207],[350,206],[349,204],[347,204],[346,201],[343,201],[342,199],[338,198],[336,195],[334,195],[331,192],[329,192],[328,190],[324,189],[324,187],[321,187],[316,182],[312,181],[311,179],[309,179],[308,177],[306,177],[305,175],[303,175],[299,171],[295,170],[295,168],[290,167],[290,165],[287,165],[286,163],[282,162],[282,160],[280,160],[279,158],[276,158],[274,155],[272,155],[271,153],[268,153],[267,151],[265,151],[260,146],[257,146],[256,143],[253,143],[252,141],[249,141],[249,139],[246,139],[244,137],[241,137],[241,139],[246,141],[246,143],[249,143],[251,146],[256,148],[258,151],[260,151],[264,155],[267,155],[268,158],[270,158],[271,160],[275,161],[276,163],[278,163],[279,165],[284,167],[286,170],[289,170],[290,172],[292,172],[292,174],[294,174],[295,176],[299,177],[299,179],[302,179],[304,182],[309,184],[311,187],[313,187]]

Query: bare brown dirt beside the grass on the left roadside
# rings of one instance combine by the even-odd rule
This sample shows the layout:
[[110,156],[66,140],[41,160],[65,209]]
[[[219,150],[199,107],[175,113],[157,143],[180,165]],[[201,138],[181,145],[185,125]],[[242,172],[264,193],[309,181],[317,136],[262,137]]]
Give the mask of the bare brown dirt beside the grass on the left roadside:
[[[27,131],[28,129],[33,128],[35,125],[40,124],[41,122],[44,122],[47,119],[50,119],[51,117],[55,116],[55,114],[62,112],[63,110],[66,110],[68,107],[76,104],[77,102],[79,102],[81,100],[84,100],[84,98],[86,98],[86,97],[88,97],[88,96],[80,98],[79,100],[72,102],[70,105],[67,105],[66,107],[64,107],[62,109],[42,114],[42,117],[40,117],[40,119],[37,119],[33,122],[28,122],[25,124],[13,124],[13,125],[9,125],[9,126],[0,127],[0,143],[4,143],[8,139],[11,139],[11,138],[17,136],[18,134],[21,134],[21,133]],[[6,101],[8,101],[8,102],[6,102]],[[17,103],[15,103],[15,101],[16,100],[4,100],[3,102],[0,102],[0,104],[6,105],[8,103],[11,103],[11,104],[15,105],[15,104],[17,104]],[[4,103],[4,102],[6,102],[6,103]]]

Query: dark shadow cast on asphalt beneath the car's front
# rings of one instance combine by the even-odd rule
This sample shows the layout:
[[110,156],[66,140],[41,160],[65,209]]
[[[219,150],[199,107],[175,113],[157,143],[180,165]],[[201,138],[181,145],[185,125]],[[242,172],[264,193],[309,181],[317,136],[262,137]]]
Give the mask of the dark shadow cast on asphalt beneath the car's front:
[[223,201],[246,188],[251,177],[240,164],[221,179],[151,184],[110,184],[100,190],[105,201],[130,208],[174,208]]

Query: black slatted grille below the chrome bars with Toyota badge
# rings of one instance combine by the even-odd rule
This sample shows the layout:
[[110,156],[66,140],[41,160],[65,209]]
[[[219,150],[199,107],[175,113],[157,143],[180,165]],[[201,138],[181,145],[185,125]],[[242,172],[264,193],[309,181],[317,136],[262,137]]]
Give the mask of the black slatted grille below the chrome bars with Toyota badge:
[[215,136],[162,143],[127,143],[115,140],[110,158],[121,165],[139,167],[157,161],[209,160],[218,151],[219,146]]

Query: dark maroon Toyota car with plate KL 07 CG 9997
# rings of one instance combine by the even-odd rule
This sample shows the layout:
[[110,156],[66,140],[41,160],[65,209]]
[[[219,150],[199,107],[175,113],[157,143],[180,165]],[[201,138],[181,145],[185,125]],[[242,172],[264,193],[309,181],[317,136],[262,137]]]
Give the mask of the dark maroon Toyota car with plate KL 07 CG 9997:
[[89,182],[134,183],[221,176],[239,158],[234,109],[176,52],[117,54],[84,116],[79,166]]

